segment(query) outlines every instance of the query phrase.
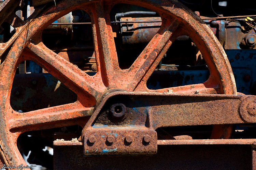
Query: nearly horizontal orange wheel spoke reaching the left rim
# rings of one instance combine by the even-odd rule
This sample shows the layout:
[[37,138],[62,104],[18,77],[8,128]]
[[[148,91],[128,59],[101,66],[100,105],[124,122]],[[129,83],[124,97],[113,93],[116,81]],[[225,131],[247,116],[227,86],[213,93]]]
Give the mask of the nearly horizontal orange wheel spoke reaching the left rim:
[[[42,127],[51,125],[51,127],[61,127],[63,121],[68,121],[76,118],[83,118],[93,113],[94,108],[86,108],[80,102],[72,104],[60,105],[51,108],[45,108],[26,113],[13,113],[12,119],[10,119],[10,129],[22,128],[22,130],[29,131],[31,128],[25,128],[26,126],[32,126],[32,130],[39,130]],[[59,123],[58,123],[59,121]],[[72,121],[73,124],[77,124],[77,121]],[[64,122],[65,123],[65,122]],[[71,122],[69,122],[70,125]]]

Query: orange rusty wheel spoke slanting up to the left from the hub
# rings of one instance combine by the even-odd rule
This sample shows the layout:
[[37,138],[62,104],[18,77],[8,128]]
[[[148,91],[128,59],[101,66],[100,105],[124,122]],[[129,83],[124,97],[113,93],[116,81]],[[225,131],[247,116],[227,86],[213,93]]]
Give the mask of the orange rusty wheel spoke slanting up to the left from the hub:
[[79,93],[82,89],[97,97],[105,89],[105,86],[97,83],[94,77],[87,75],[81,69],[48,49],[42,42],[37,45],[30,43],[28,48],[36,55],[32,56],[31,60],[36,60],[35,62],[41,64],[49,73],[75,93]]

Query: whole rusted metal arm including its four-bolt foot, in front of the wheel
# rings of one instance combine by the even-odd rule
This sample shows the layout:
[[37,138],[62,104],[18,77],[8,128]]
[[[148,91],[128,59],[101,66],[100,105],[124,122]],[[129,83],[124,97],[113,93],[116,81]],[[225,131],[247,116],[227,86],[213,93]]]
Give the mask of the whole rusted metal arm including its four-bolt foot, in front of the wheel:
[[82,131],[85,155],[155,154],[158,127],[252,123],[255,96],[106,92]]

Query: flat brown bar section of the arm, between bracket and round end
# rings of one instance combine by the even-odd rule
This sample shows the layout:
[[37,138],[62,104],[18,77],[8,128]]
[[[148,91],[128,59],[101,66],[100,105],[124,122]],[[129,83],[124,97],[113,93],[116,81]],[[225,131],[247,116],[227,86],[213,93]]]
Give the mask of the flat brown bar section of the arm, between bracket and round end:
[[[244,123],[240,117],[238,98],[211,97],[211,96],[162,96],[155,97],[162,102],[143,98],[151,115],[152,126],[196,126],[212,124]],[[139,99],[139,98],[138,98]],[[153,105],[155,103],[155,106]],[[137,107],[137,106],[134,106]],[[143,107],[143,105],[142,105]]]

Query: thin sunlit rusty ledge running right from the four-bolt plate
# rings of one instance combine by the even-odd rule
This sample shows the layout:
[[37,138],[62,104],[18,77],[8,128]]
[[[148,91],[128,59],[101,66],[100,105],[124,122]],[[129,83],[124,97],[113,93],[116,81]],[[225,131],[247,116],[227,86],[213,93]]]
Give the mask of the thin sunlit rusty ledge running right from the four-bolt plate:
[[256,139],[157,140],[158,145],[255,144]]

